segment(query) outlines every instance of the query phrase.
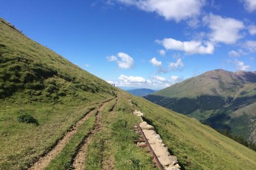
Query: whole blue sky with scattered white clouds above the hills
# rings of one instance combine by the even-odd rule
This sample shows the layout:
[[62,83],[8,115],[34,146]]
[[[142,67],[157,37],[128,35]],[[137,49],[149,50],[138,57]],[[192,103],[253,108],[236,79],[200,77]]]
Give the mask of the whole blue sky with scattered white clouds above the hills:
[[0,17],[110,83],[162,89],[256,70],[255,0],[1,1]]

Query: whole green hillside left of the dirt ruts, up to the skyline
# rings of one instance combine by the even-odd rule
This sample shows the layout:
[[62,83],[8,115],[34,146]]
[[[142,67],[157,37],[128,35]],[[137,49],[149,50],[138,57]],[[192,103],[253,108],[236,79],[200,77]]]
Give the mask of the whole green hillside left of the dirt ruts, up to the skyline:
[[0,18],[0,169],[26,169],[114,91]]

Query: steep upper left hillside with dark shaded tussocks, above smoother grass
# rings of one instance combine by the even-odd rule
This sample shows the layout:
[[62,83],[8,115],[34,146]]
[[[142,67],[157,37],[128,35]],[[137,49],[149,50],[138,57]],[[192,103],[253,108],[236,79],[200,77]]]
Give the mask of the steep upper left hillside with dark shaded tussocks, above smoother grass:
[[0,98],[23,91],[45,102],[63,97],[92,101],[113,91],[103,79],[12,29],[2,18],[0,56]]

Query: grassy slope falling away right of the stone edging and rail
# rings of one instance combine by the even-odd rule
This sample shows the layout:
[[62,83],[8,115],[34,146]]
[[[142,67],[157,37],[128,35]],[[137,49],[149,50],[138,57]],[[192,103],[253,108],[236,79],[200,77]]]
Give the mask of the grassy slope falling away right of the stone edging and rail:
[[197,120],[132,97],[186,169],[255,169],[255,152]]

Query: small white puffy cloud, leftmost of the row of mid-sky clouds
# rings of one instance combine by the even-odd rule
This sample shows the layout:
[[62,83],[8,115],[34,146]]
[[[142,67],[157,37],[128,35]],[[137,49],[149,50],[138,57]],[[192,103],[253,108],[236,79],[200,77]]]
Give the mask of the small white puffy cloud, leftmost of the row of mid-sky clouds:
[[117,54],[117,57],[114,55],[111,55],[110,57],[106,57],[109,62],[116,62],[118,67],[128,69],[132,68],[134,65],[134,59],[130,57],[128,54],[125,54],[123,52],[119,52]]

